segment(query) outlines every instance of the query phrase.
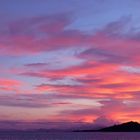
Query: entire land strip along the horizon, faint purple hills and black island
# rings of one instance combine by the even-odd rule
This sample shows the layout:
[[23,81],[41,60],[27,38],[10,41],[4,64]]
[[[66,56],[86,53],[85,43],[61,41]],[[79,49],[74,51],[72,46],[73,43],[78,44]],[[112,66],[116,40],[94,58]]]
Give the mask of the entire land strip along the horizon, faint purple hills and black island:
[[117,124],[117,125],[112,125],[109,127],[104,127],[104,128],[83,128],[77,129],[77,130],[59,130],[59,129],[27,129],[27,130],[16,130],[16,129],[0,129],[0,133],[7,133],[7,132],[12,132],[12,133],[47,133],[47,132],[140,132],[140,123],[130,121],[122,124]]

